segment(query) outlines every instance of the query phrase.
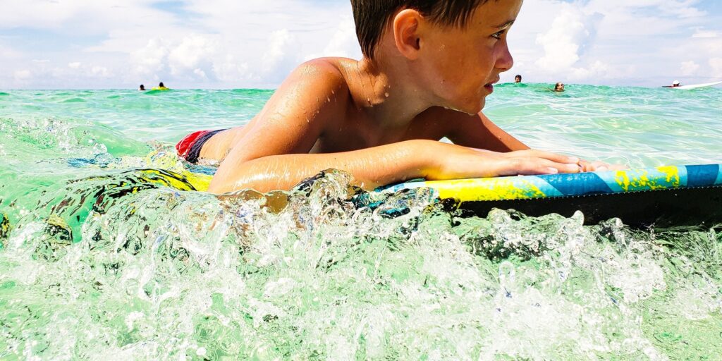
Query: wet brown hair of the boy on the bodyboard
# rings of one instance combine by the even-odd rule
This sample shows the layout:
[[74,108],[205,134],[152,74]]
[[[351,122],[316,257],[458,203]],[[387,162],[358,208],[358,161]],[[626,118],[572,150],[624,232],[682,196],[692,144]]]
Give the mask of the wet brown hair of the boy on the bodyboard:
[[401,9],[414,9],[442,25],[465,26],[478,6],[489,0],[351,0],[361,51],[373,58],[389,20]]

